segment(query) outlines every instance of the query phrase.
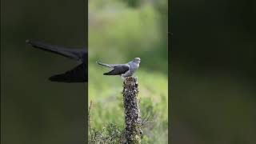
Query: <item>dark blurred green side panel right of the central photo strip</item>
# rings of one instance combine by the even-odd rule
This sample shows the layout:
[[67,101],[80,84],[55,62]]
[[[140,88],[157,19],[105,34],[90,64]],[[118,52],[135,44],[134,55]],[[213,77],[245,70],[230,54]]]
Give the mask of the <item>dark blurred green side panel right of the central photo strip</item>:
[[171,2],[172,143],[256,143],[255,6]]

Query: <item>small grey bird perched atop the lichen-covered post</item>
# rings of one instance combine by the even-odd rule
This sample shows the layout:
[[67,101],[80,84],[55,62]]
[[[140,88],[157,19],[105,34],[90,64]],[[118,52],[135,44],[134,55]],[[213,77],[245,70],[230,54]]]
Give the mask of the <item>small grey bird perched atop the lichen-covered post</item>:
[[141,58],[134,58],[133,61],[130,61],[126,64],[106,64],[102,62],[97,62],[99,65],[106,66],[111,68],[104,75],[120,75],[122,78],[131,77],[136,70],[138,70],[139,64],[141,62]]

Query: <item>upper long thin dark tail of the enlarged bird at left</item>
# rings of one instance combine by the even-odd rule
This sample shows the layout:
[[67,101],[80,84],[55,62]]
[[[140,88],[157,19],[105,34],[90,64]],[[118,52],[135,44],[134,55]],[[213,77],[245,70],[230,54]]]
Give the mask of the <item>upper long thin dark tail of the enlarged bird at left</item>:
[[84,59],[85,55],[87,54],[86,49],[68,49],[62,46],[54,46],[54,45],[50,45],[48,43],[40,42],[37,40],[26,40],[26,42],[35,48],[50,51],[55,54],[60,54],[64,57],[72,58],[77,61]]

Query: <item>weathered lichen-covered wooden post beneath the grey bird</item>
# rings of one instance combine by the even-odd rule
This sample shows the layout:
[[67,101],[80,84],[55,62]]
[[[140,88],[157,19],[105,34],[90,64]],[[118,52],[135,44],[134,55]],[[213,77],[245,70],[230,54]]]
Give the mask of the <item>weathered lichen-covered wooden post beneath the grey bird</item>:
[[142,120],[139,110],[137,78],[125,78],[123,82],[123,104],[125,109],[126,128],[124,140],[126,144],[140,144],[142,135]]

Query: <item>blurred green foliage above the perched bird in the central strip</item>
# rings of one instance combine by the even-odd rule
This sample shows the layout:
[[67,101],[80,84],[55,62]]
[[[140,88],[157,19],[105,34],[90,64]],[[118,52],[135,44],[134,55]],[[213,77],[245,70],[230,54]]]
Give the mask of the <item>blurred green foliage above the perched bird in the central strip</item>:
[[90,1],[90,61],[127,62],[140,57],[146,69],[167,73],[167,5],[153,4],[130,8],[122,1]]

